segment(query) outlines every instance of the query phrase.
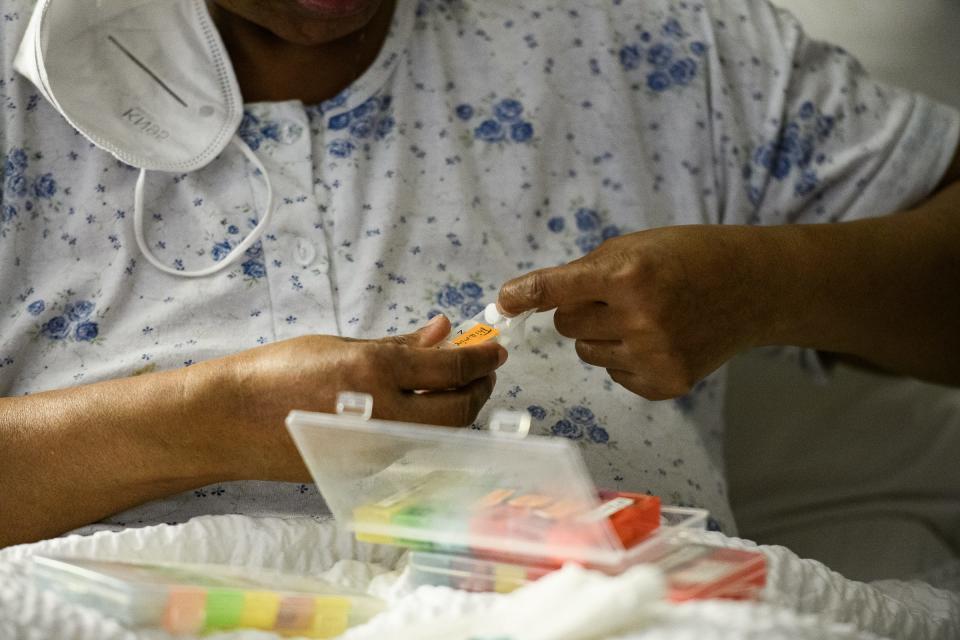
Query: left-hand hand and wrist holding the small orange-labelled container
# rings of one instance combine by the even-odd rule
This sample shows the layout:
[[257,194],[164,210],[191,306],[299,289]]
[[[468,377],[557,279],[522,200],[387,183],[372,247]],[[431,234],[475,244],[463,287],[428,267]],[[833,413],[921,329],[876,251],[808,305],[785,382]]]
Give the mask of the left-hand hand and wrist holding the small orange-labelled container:
[[403,336],[309,335],[200,363],[188,369],[200,399],[191,405],[206,407],[207,429],[220,432],[207,443],[231,452],[231,475],[306,480],[284,418],[294,409],[332,412],[341,391],[372,395],[377,418],[448,426],[476,419],[507,352],[495,344],[436,348],[449,332],[438,316]]

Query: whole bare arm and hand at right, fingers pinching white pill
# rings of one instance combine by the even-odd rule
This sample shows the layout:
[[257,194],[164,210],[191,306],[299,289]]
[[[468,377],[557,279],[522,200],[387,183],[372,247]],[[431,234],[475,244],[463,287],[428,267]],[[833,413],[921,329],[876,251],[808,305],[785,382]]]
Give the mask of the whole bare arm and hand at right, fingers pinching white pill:
[[[960,156],[954,161],[956,180]],[[896,215],[614,238],[506,283],[509,314],[556,308],[577,353],[650,399],[744,349],[794,345],[960,385],[960,182]]]

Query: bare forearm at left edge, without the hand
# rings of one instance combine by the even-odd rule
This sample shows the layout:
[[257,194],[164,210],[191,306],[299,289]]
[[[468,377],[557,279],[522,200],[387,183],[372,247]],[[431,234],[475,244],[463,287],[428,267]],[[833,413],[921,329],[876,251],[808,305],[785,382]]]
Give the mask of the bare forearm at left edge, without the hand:
[[222,479],[198,428],[198,376],[0,398],[0,547]]

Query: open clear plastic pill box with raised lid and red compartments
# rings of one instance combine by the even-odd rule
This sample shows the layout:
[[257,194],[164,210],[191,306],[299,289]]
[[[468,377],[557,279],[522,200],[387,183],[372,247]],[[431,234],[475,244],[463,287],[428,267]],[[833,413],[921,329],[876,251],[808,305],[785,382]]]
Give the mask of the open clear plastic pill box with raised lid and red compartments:
[[517,435],[525,412],[495,415],[492,430],[371,415],[369,396],[341,394],[336,414],[287,417],[330,510],[366,542],[617,573],[652,543],[706,522],[703,509],[597,491],[572,442]]

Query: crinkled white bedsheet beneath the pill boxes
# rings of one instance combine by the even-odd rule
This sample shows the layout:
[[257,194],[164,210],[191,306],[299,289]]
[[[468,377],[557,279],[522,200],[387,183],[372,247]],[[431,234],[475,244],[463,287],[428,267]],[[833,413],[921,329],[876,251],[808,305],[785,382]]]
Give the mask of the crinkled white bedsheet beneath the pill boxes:
[[[704,533],[706,541],[737,548],[752,543]],[[782,547],[759,547],[768,557],[768,586],[760,603],[725,601],[658,606],[617,638],[960,638],[960,565],[945,567],[934,588],[924,583],[846,580],[822,564]],[[350,630],[345,638],[400,638],[411,625],[440,616],[478,616],[509,610],[522,594],[468,594],[442,587],[411,589],[403,554],[353,541],[329,520],[208,516],[179,526],[161,525],[92,536],[71,536],[0,551],[0,638],[114,640],[166,639],[156,630],[126,629],[96,611],[73,606],[35,589],[31,556],[60,554],[130,561],[213,562],[319,575],[369,590],[390,601],[387,612]],[[541,581],[542,582],[542,581]],[[538,588],[533,585],[528,588]],[[540,587],[542,589],[542,587]],[[544,591],[547,593],[547,591]],[[601,620],[604,607],[575,591],[550,591],[557,610],[579,607]],[[547,597],[547,596],[545,596]],[[506,608],[506,609],[505,609]],[[594,611],[595,609],[595,611]],[[533,628],[533,626],[531,627]],[[274,638],[238,631],[208,638]],[[518,636],[513,640],[522,640]]]

